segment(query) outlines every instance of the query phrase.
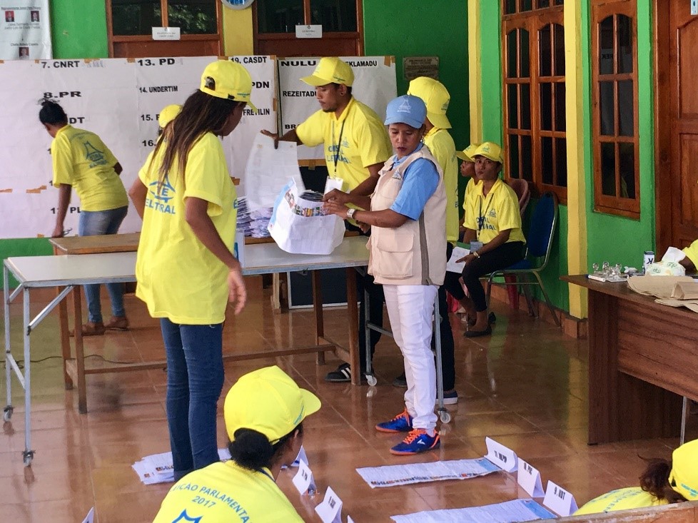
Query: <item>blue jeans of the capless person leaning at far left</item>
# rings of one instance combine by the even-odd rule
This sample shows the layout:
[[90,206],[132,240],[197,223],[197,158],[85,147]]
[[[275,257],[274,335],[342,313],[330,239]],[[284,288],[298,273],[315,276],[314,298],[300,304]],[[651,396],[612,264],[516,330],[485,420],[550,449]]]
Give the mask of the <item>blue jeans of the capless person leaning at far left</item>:
[[[83,210],[80,213],[78,234],[80,236],[96,236],[100,234],[116,234],[119,225],[126,218],[128,207],[118,207],[109,210]],[[85,285],[87,298],[88,321],[102,323],[102,305],[99,301],[99,284]],[[106,289],[111,300],[111,314],[125,316],[123,310],[123,283],[107,283]]]

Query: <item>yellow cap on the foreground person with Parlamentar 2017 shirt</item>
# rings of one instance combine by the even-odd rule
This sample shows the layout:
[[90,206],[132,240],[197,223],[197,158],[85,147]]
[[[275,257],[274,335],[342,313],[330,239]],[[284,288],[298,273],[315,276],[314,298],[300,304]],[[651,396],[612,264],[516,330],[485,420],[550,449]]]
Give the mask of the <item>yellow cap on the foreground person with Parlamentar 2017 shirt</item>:
[[318,410],[318,397],[274,365],[249,372],[231,387],[223,418],[231,441],[244,428],[261,432],[274,444]]

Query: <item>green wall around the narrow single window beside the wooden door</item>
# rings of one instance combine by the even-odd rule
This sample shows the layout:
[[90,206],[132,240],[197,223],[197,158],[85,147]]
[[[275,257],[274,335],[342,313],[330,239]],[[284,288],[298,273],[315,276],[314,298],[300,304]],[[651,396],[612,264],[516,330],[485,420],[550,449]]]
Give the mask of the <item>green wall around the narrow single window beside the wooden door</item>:
[[[591,14],[587,6],[582,11],[590,25]],[[583,35],[587,41],[583,53],[585,81],[591,86],[589,79],[590,64],[590,34]],[[601,264],[604,261],[620,263],[639,268],[642,265],[644,250],[654,250],[654,88],[652,66],[652,0],[637,0],[637,73],[638,73],[638,113],[639,113],[639,188],[640,188],[640,219],[631,220],[615,215],[597,213],[594,210],[594,185],[592,169],[592,143],[590,141],[591,115],[586,116],[587,129],[585,132],[585,148],[588,151],[587,161],[587,235],[589,247],[587,250],[589,265]],[[587,89],[585,107],[591,106],[588,99],[590,89]]]

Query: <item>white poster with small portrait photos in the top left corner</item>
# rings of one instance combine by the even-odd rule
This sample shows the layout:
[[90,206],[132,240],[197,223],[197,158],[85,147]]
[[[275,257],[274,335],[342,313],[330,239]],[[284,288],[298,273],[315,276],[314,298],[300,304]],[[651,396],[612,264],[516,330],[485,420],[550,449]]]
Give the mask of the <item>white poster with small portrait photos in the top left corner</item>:
[[49,0],[0,0],[0,60],[51,56]]

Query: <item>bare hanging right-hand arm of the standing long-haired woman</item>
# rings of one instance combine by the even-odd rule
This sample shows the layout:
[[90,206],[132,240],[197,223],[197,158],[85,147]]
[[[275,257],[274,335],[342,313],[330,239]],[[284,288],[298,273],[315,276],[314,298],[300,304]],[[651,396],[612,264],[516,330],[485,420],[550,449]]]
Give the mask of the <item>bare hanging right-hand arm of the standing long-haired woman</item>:
[[235,313],[239,314],[245,308],[247,301],[242,269],[233,253],[221,240],[221,235],[218,234],[211,217],[206,212],[207,210],[208,202],[201,198],[190,196],[184,202],[185,220],[196,238],[228,267],[228,301],[235,304]]

